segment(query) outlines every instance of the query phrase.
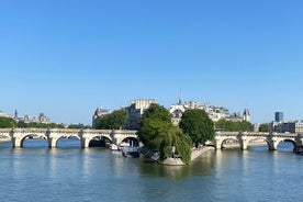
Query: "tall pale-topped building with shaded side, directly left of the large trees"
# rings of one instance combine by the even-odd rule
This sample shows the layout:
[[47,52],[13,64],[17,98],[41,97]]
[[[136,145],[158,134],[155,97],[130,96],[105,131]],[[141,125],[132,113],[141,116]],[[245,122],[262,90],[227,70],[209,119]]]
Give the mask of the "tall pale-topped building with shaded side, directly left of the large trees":
[[156,103],[156,101],[154,99],[137,99],[126,108],[128,112],[128,119],[126,123],[127,130],[137,130],[139,127],[144,110],[148,109],[152,103]]

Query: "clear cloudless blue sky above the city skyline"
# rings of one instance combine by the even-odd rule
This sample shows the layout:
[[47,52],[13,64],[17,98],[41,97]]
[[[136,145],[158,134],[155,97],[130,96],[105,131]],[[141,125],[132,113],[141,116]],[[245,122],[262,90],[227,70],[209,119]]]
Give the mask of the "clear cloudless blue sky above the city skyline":
[[303,120],[301,0],[0,0],[0,110],[91,124],[134,99]]

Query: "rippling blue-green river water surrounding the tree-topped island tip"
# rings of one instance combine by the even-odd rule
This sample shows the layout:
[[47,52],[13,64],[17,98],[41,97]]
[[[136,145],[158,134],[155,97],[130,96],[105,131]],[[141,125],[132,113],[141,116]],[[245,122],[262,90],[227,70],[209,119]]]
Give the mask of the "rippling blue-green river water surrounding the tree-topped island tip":
[[211,150],[189,166],[160,166],[61,141],[0,144],[0,201],[301,201],[303,156],[290,143]]

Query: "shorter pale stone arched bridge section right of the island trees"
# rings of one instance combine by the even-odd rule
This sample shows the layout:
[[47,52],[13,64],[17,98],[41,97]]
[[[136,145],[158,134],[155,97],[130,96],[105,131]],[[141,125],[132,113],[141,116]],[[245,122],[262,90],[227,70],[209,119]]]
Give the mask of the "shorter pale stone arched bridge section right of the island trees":
[[277,150],[279,143],[291,142],[294,146],[303,145],[303,134],[293,133],[255,133],[255,132],[216,132],[213,144],[216,149],[223,148],[223,144],[234,139],[242,149],[247,149],[250,142],[263,141],[270,150]]

